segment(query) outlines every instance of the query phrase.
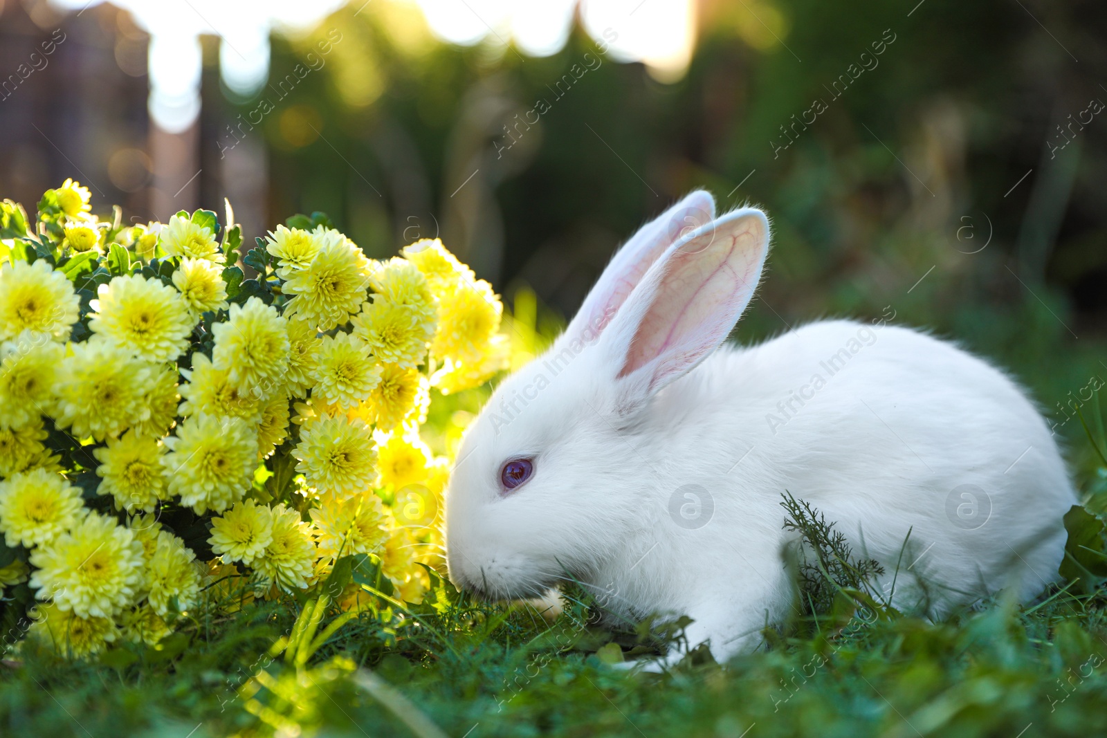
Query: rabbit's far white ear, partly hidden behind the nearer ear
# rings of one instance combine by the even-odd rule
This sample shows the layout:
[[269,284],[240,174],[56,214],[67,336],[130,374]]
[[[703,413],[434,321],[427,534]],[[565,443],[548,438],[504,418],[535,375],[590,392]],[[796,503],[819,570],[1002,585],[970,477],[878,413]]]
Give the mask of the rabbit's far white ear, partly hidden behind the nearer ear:
[[594,341],[658,257],[675,241],[714,218],[715,198],[700,189],[642,226],[600,274],[566,329],[565,337],[570,341],[581,339],[586,343]]

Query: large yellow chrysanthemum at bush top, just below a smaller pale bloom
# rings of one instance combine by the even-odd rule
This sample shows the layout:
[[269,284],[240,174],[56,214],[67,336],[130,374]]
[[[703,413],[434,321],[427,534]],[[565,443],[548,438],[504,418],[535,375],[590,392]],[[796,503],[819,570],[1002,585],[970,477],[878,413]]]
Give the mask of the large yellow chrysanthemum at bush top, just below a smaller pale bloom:
[[284,314],[299,315],[320,331],[345,323],[365,301],[368,263],[349,241],[325,245],[310,264],[284,282],[284,294],[292,295]]

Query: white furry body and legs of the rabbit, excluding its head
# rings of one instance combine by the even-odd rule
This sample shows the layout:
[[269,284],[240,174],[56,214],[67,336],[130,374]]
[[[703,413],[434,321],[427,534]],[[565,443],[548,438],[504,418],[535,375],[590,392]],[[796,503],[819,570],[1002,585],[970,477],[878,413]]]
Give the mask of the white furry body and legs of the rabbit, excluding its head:
[[649,470],[640,534],[588,584],[628,616],[691,615],[690,643],[716,656],[795,606],[785,490],[882,564],[878,588],[907,611],[941,616],[1008,585],[1031,599],[1064,555],[1075,493],[1041,415],[1003,373],[917,331],[823,321],[724,346],[623,433]]

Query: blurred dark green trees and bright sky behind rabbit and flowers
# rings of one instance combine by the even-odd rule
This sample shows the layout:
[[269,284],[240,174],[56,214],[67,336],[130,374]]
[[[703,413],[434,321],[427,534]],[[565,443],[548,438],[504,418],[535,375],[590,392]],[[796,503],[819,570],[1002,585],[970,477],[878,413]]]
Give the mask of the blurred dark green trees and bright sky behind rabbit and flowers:
[[[775,225],[738,339],[927,325],[1057,433],[1107,380],[1107,8],[1058,0],[0,0],[0,194],[323,210],[571,315],[695,187]],[[951,434],[959,433],[951,428]]]

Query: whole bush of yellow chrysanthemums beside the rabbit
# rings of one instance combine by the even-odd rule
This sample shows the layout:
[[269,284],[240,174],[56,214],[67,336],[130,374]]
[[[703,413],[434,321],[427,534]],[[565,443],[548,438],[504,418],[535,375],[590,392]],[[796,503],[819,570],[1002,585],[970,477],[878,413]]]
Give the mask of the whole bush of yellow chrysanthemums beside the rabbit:
[[89,200],[0,204],[4,621],[75,657],[154,645],[218,582],[302,596],[343,560],[416,601],[447,474],[420,426],[432,386],[505,367],[490,285],[322,214],[247,252],[229,204],[130,226]]

